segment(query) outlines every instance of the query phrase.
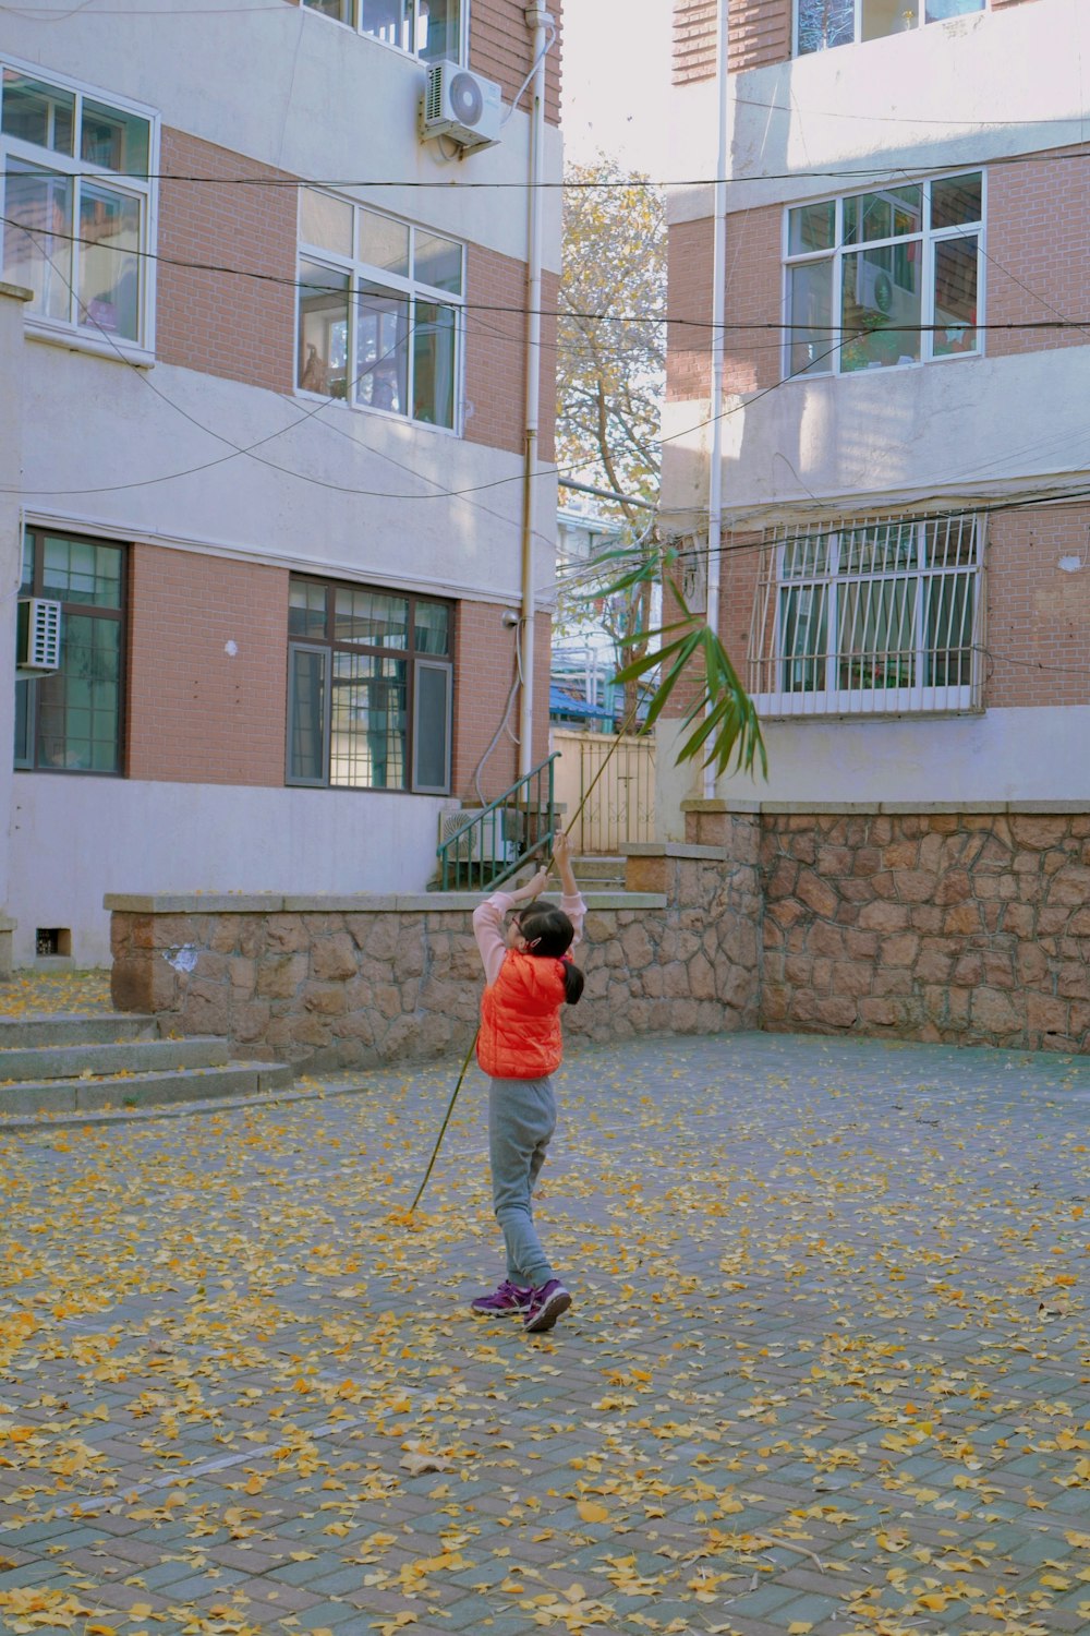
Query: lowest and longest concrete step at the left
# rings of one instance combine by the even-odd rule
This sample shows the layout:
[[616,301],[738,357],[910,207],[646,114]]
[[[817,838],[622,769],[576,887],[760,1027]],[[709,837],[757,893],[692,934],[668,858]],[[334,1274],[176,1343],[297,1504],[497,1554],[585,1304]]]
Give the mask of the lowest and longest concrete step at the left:
[[[172,1040],[170,1044],[178,1044]],[[222,1067],[176,1068],[157,1073],[113,1073],[101,1078],[21,1080],[0,1085],[5,1114],[70,1114],[103,1108],[154,1108],[198,1103],[219,1096],[255,1096],[294,1081],[286,1062],[227,1062]]]

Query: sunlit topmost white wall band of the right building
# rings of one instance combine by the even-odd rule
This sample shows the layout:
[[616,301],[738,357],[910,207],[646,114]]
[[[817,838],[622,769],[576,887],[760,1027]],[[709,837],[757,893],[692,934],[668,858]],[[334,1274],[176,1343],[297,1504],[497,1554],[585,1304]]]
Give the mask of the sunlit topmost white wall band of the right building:
[[[730,173],[747,177],[730,209],[829,198],[873,175],[927,172],[1087,139],[1090,7],[1034,0],[735,75]],[[716,87],[678,87],[668,175],[709,178]],[[850,169],[843,180],[815,172]],[[806,173],[804,173],[806,172]],[[670,221],[713,208],[709,187],[678,187]]]

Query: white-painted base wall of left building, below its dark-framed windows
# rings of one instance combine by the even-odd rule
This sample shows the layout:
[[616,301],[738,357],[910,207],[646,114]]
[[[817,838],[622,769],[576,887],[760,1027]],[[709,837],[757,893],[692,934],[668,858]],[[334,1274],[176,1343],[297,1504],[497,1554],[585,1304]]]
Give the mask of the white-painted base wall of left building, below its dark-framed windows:
[[435,870],[438,813],[453,805],[16,772],[15,964],[33,964],[34,929],[47,926],[72,933],[77,965],[109,965],[106,892],[420,892]]

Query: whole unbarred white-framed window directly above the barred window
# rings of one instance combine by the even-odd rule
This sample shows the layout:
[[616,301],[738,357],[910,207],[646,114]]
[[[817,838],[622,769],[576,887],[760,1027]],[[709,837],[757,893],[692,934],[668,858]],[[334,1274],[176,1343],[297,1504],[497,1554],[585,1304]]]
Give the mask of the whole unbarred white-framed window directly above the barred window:
[[979,352],[984,177],[912,182],[786,216],[786,375]]

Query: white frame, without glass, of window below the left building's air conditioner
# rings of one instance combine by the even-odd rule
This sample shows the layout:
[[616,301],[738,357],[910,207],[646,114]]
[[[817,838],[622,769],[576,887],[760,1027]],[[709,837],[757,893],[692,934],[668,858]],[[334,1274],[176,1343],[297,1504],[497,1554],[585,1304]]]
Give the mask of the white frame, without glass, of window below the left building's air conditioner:
[[[322,188],[314,188],[312,191],[322,193]],[[320,245],[307,244],[302,237],[302,226],[299,227],[299,263],[314,262],[319,267],[327,267],[330,272],[343,273],[348,276],[348,344],[346,344],[346,371],[350,381],[350,391],[343,399],[330,399],[325,393],[312,393],[299,384],[299,301],[296,301],[296,345],[294,345],[294,371],[296,371],[296,393],[301,398],[312,398],[317,401],[335,401],[346,402],[351,409],[363,411],[366,414],[377,414],[387,419],[397,420],[400,425],[427,427],[428,432],[438,432],[444,437],[461,437],[464,422],[464,368],[466,368],[466,245],[458,239],[451,239],[449,234],[441,232],[438,227],[425,227],[422,222],[404,221],[402,218],[391,216],[386,211],[376,211],[371,204],[361,204],[360,200],[346,200],[343,195],[330,193],[328,198],[335,198],[340,204],[351,204],[353,221],[351,221],[351,242],[358,245],[360,242],[360,222],[358,213],[368,211],[371,216],[384,216],[387,221],[395,222],[399,227],[409,231],[409,267],[415,265],[415,245],[417,232],[435,234],[444,239],[448,244],[456,244],[461,250],[461,293],[453,294],[449,290],[440,290],[435,285],[423,283],[415,276],[402,276],[400,273],[391,273],[384,267],[373,267],[369,262],[363,262],[358,257],[340,255],[335,250],[327,250]],[[299,218],[302,221],[302,188],[299,190]],[[299,280],[302,280],[302,267],[299,270]],[[413,414],[402,414],[399,409],[381,409],[377,404],[363,402],[356,398],[356,317],[358,317],[358,299],[356,291],[360,283],[377,285],[389,291],[392,296],[409,301],[409,311],[413,314],[415,303],[423,301],[433,306],[449,308],[454,314],[454,366],[453,366],[453,420],[451,425],[441,425],[435,420],[418,420]],[[405,394],[409,404],[413,401],[413,370],[415,357],[412,348],[412,317],[409,329],[409,360],[405,373]]]

